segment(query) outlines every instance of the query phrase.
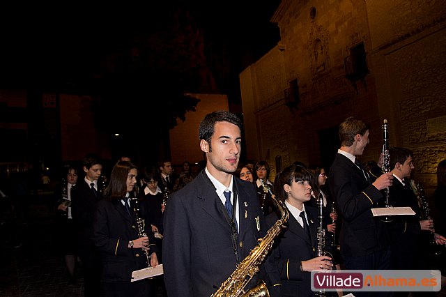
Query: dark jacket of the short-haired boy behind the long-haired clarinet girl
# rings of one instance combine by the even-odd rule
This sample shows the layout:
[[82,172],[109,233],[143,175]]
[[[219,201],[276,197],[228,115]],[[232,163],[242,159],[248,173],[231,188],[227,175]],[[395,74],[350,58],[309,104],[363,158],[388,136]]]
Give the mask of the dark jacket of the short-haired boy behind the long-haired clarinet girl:
[[77,230],[79,245],[93,245],[93,216],[100,199],[102,199],[102,191],[98,191],[95,197],[90,185],[84,179],[78,181],[71,190],[72,219]]

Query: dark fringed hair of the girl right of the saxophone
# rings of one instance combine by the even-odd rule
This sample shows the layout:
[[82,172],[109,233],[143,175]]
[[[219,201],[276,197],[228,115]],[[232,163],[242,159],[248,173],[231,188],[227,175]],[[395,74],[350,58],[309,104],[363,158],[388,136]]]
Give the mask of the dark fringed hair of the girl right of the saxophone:
[[281,201],[285,201],[287,196],[284,185],[291,185],[293,181],[308,181],[309,183],[312,183],[312,174],[310,174],[303,166],[290,165],[289,167],[286,167],[282,172],[276,174],[273,185],[276,197]]

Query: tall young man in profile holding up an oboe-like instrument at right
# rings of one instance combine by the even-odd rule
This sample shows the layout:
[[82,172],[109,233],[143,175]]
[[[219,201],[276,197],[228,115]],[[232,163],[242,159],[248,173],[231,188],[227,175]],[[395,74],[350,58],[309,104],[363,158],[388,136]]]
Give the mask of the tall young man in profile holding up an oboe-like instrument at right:
[[[390,269],[390,245],[385,223],[374,218],[371,208],[383,199],[380,190],[392,185],[391,173],[371,183],[359,160],[369,143],[369,125],[353,116],[339,125],[341,147],[330,168],[330,191],[342,220],[341,256],[346,269]],[[365,293],[365,294],[364,294]],[[380,292],[378,292],[380,293]],[[364,294],[364,295],[362,295]],[[369,296],[355,292],[355,296]]]

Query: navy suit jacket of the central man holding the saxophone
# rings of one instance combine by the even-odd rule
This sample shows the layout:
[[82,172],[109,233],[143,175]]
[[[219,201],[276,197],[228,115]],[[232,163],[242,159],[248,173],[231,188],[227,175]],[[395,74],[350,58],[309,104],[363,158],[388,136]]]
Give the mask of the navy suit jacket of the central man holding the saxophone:
[[[235,176],[233,183],[240,215],[236,248],[243,261],[257,245],[263,219],[254,185]],[[164,211],[162,253],[169,296],[210,296],[236,270],[231,226],[226,217],[226,209],[204,170],[169,197]]]

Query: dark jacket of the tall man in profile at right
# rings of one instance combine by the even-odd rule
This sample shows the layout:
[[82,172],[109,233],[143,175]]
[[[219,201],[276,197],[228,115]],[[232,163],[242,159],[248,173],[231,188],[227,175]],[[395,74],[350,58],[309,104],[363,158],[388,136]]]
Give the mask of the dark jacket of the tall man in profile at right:
[[382,193],[351,160],[339,153],[330,168],[329,181],[342,220],[341,254],[361,257],[388,248],[385,224],[371,214],[374,204],[383,199]]

